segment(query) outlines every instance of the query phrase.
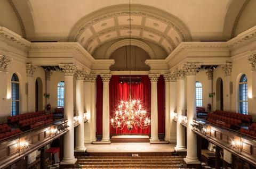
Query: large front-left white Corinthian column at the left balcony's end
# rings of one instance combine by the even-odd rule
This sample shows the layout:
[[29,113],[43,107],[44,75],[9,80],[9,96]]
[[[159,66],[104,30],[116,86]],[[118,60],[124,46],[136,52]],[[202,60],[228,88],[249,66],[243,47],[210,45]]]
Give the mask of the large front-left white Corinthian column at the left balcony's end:
[[65,119],[68,120],[69,130],[64,135],[64,149],[63,159],[60,164],[75,164],[77,159],[74,156],[74,89],[73,89],[73,76],[76,71],[75,64],[59,64],[60,69],[64,73],[65,81],[65,96],[64,96],[64,114]]

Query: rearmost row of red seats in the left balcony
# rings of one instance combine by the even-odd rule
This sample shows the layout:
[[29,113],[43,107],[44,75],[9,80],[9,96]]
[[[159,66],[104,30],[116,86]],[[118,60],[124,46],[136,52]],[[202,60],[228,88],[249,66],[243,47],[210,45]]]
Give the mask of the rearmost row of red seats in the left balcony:
[[9,124],[18,123],[20,120],[25,120],[25,119],[43,115],[43,114],[45,114],[45,111],[31,112],[31,113],[25,113],[25,114],[18,114],[15,116],[9,116],[9,117],[7,117],[7,122]]

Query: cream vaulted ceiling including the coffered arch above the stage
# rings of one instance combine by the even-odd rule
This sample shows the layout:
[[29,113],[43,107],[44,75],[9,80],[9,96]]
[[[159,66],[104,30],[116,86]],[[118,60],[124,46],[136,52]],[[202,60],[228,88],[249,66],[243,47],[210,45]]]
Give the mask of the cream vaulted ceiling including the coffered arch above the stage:
[[131,0],[131,20],[129,0],[6,1],[12,2],[28,40],[77,41],[93,54],[131,33],[131,38],[155,43],[170,54],[182,41],[230,39],[250,0]]

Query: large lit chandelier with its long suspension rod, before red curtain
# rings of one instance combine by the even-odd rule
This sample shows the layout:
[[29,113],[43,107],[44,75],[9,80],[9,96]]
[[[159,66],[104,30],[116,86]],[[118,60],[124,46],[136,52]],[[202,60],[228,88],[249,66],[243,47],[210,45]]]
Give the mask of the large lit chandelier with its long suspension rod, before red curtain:
[[[110,124],[113,128],[123,129],[125,126],[128,130],[132,130],[133,127],[145,129],[150,126],[150,118],[146,109],[143,108],[139,99],[132,99],[131,97],[131,0],[129,4],[129,16],[130,16],[130,77],[129,77],[129,99],[119,101],[116,112],[110,119]],[[127,63],[127,56],[126,56]],[[126,67],[127,69],[127,67]]]

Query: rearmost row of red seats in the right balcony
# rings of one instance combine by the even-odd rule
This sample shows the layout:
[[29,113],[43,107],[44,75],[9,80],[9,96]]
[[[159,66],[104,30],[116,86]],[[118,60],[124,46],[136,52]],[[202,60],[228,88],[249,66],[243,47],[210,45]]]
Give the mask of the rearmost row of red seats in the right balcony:
[[226,112],[226,111],[219,111],[219,110],[216,110],[214,113],[222,115],[222,116],[227,116],[227,117],[232,117],[234,119],[242,120],[242,121],[247,122],[247,123],[252,122],[252,115],[240,114],[240,113],[234,113],[234,112]]

